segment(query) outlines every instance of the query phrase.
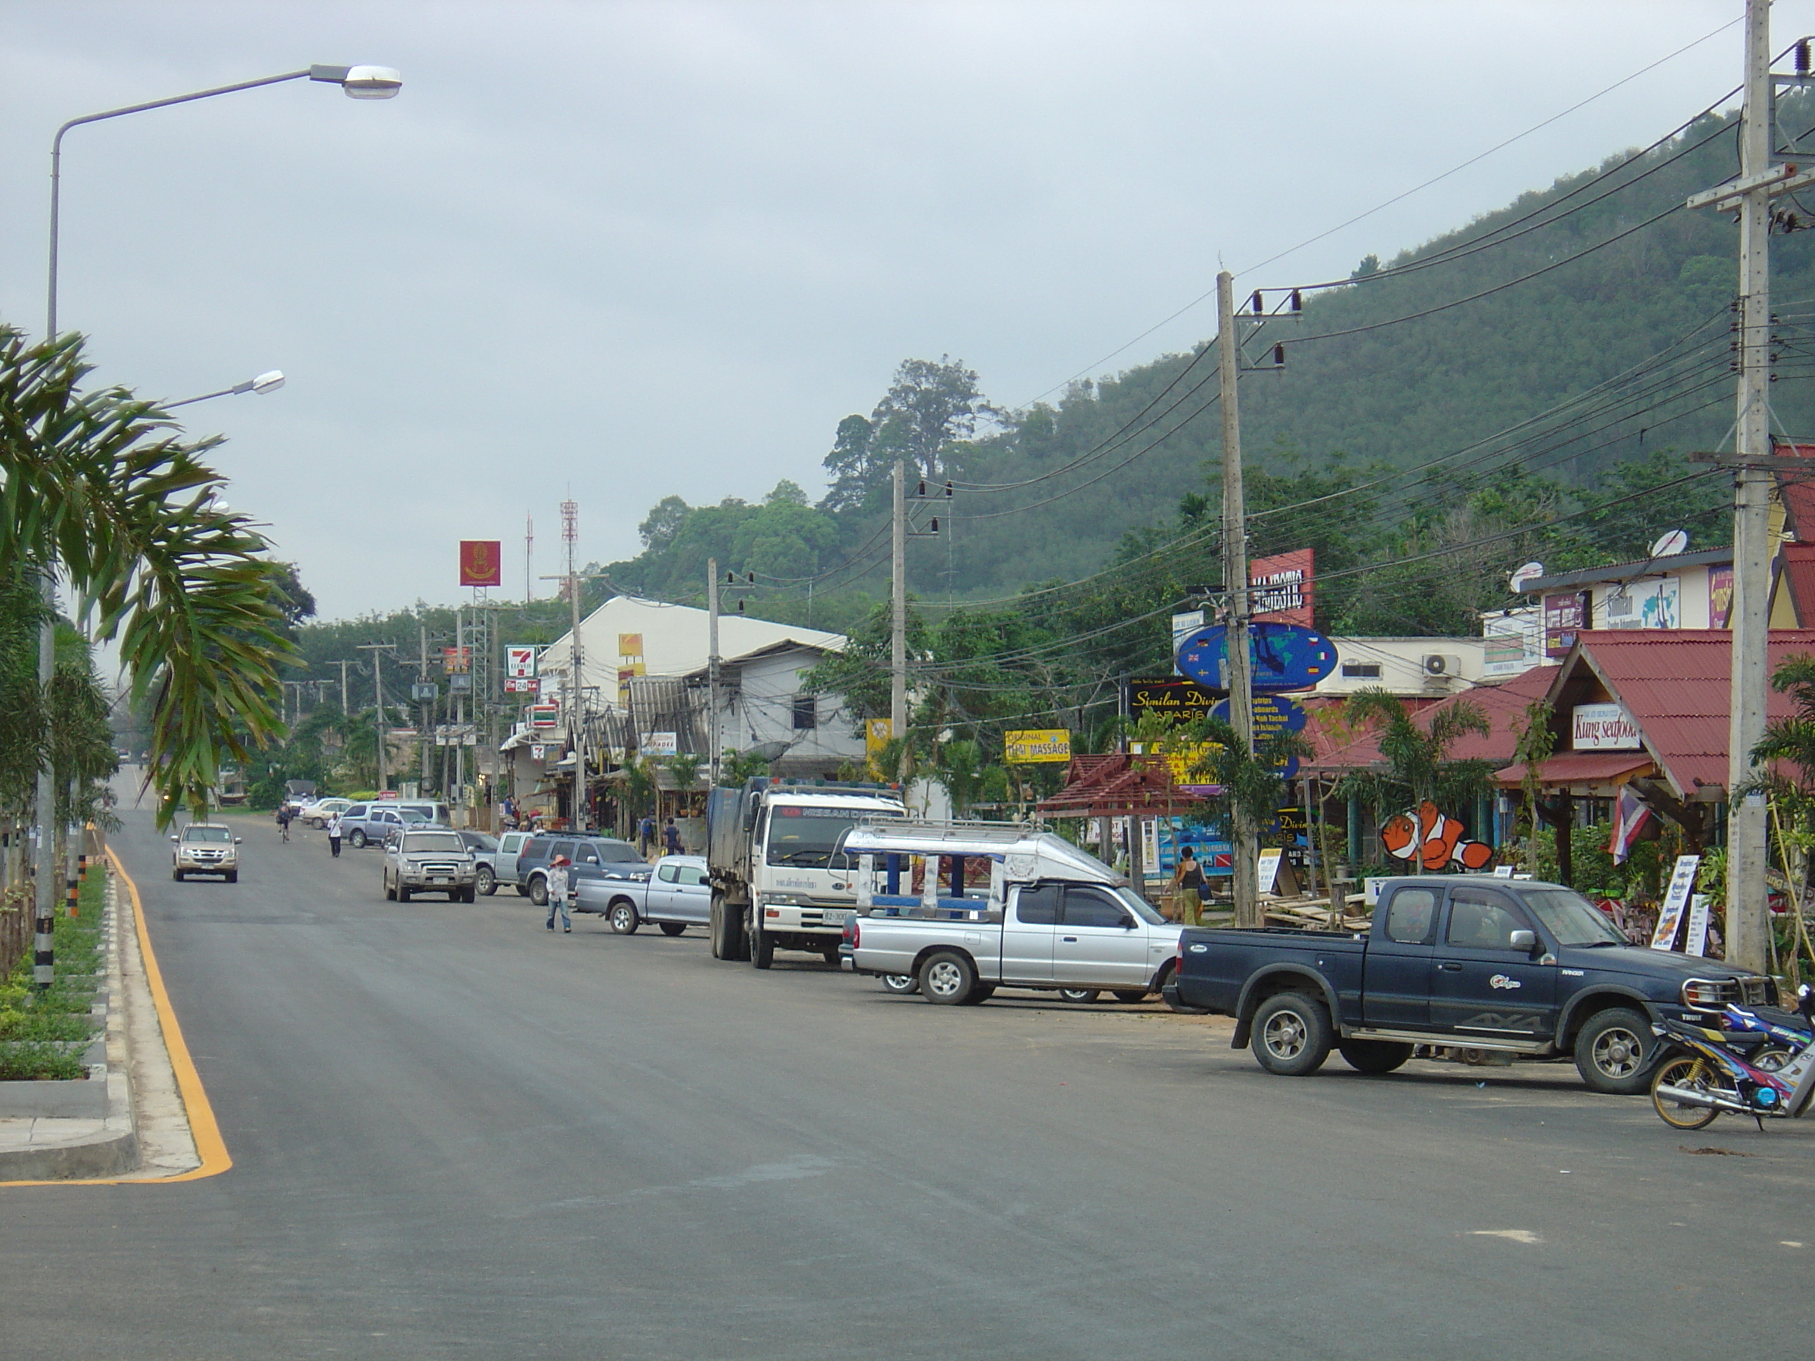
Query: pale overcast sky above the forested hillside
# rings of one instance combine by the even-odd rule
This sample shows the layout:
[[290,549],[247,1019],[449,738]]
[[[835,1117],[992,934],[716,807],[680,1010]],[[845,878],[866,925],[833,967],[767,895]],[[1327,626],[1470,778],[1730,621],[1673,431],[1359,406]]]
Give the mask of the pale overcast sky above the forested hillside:
[[[1741,27],[1276,263],[1739,18],[1741,0],[1267,4],[0,2],[0,316],[187,397],[231,503],[323,617],[639,550],[657,499],[813,495],[839,417],[949,354],[1018,406],[1214,332],[1240,287],[1345,276],[1652,142],[1739,83]],[[1775,47],[1815,27],[1779,0]],[[1118,347],[1120,354],[1109,357]],[[546,584],[537,586],[546,593]]]

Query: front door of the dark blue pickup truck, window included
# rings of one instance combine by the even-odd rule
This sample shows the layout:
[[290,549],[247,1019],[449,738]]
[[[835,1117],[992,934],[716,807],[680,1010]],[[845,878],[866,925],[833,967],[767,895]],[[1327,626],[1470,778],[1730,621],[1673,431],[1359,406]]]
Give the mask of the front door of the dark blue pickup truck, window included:
[[1557,1020],[1557,965],[1514,949],[1514,931],[1534,931],[1525,909],[1497,889],[1450,889],[1437,945],[1430,1020],[1452,1034],[1543,1038]]

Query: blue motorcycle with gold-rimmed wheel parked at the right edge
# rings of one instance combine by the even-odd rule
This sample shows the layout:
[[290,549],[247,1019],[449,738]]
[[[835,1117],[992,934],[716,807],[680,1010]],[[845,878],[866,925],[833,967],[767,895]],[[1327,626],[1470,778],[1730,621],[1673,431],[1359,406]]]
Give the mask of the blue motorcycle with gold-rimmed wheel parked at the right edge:
[[1652,1078],[1652,1107],[1672,1129],[1706,1129],[1722,1111],[1797,1120],[1815,1098],[1815,987],[1797,989],[1797,1011],[1808,1029],[1786,1023],[1788,1013],[1761,1014],[1730,1005],[1728,1029],[1663,1020],[1652,1025],[1668,1047]]

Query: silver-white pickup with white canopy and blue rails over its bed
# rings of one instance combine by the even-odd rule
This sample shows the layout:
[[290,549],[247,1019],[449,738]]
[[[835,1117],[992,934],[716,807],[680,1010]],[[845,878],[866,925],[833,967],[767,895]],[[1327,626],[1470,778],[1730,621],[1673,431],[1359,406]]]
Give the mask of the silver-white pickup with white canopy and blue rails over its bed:
[[[1178,962],[1182,927],[1049,831],[871,822],[851,829],[844,851],[858,862],[858,909],[840,958],[891,991],[946,1005],[973,1005],[998,987],[1056,991],[1067,1002],[1109,991],[1138,1002],[1165,987]],[[922,886],[913,893],[909,882],[904,893],[915,858]]]

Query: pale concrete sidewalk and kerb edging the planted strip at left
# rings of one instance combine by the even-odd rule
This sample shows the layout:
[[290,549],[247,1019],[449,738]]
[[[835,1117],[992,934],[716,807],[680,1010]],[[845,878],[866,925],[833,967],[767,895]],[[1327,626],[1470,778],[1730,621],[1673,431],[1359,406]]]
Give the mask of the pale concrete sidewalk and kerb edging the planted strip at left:
[[[132,898],[111,866],[102,935],[107,949],[107,1067],[102,1076],[96,1065],[89,1078],[105,1082],[102,1111],[9,1116],[0,1109],[0,1183],[165,1180],[201,1167],[147,980]],[[33,1092],[24,1096],[29,1100]],[[44,1092],[40,1109],[54,1107],[64,1092]]]

